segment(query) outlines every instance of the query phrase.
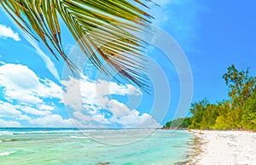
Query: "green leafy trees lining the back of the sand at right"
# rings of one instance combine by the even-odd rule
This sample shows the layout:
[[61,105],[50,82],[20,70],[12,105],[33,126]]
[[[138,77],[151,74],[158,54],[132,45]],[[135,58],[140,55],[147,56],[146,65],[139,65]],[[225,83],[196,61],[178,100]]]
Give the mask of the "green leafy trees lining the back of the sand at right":
[[[238,71],[231,65],[223,76],[229,88],[230,100],[210,104],[201,100],[191,105],[193,117],[167,122],[194,129],[248,129],[256,130],[256,77],[249,76],[248,69]],[[189,120],[189,122],[188,122]],[[189,126],[188,126],[189,123]]]

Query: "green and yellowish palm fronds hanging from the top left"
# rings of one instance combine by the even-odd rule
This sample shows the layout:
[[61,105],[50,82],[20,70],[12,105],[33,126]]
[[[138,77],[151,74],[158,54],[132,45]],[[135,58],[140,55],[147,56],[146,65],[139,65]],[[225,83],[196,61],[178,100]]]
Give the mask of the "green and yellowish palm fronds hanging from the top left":
[[[0,0],[0,4],[30,37],[40,38],[57,60],[61,55],[72,71],[76,66],[61,45],[61,20],[97,69],[108,73],[102,66],[102,60],[106,61],[121,77],[147,88],[139,62],[147,43],[131,31],[142,31],[152,17],[141,9],[148,8],[145,3],[133,1]],[[108,40],[111,42],[106,43]]]

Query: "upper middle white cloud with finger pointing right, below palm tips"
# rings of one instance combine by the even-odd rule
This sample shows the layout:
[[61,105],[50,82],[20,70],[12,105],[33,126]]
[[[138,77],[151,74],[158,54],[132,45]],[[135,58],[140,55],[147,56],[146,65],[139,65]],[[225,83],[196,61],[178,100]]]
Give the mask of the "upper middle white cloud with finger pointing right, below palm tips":
[[[62,81],[62,85],[67,91],[64,93],[64,104],[71,106],[75,110],[83,109],[83,103],[85,107],[88,107],[88,105],[98,105],[104,108],[109,105],[108,97],[105,96],[109,96],[111,94],[142,94],[138,88],[135,88],[130,84],[119,85],[117,83],[109,83],[103,80],[94,82],[90,81],[86,76],[81,76],[81,81],[73,77],[69,78],[70,79],[68,81]],[[94,109],[94,107],[92,107],[92,109]]]

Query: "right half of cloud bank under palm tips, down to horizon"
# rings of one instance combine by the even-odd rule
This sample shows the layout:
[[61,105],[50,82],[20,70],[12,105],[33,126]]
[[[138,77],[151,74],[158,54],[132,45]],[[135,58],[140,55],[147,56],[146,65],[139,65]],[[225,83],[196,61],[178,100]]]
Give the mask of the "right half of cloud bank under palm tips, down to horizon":
[[[121,125],[123,128],[156,128],[159,123],[147,113],[140,114],[130,110],[119,100],[111,99],[111,95],[139,95],[142,92],[131,84],[118,84],[103,80],[90,81],[86,76],[81,80],[69,77],[62,81],[66,88],[64,104],[73,110],[74,119],[79,127],[102,127]],[[102,112],[102,110],[104,110]]]

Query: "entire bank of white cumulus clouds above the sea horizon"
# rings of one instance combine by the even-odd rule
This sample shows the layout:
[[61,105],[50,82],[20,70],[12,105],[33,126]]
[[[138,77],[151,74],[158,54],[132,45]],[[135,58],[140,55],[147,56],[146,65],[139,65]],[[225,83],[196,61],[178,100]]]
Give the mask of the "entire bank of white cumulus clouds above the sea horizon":
[[[26,65],[0,65],[0,117],[27,121],[37,127],[113,127],[152,128],[158,123],[147,113],[130,109],[112,95],[140,95],[142,92],[130,84],[118,84],[105,80],[92,81],[82,76],[81,80],[70,77],[62,82],[62,88],[30,70]],[[61,95],[64,94],[64,99]],[[48,101],[46,101],[48,100]],[[55,101],[53,101],[55,100]],[[64,104],[70,118],[55,114],[55,104]],[[68,109],[68,108],[67,108]]]

